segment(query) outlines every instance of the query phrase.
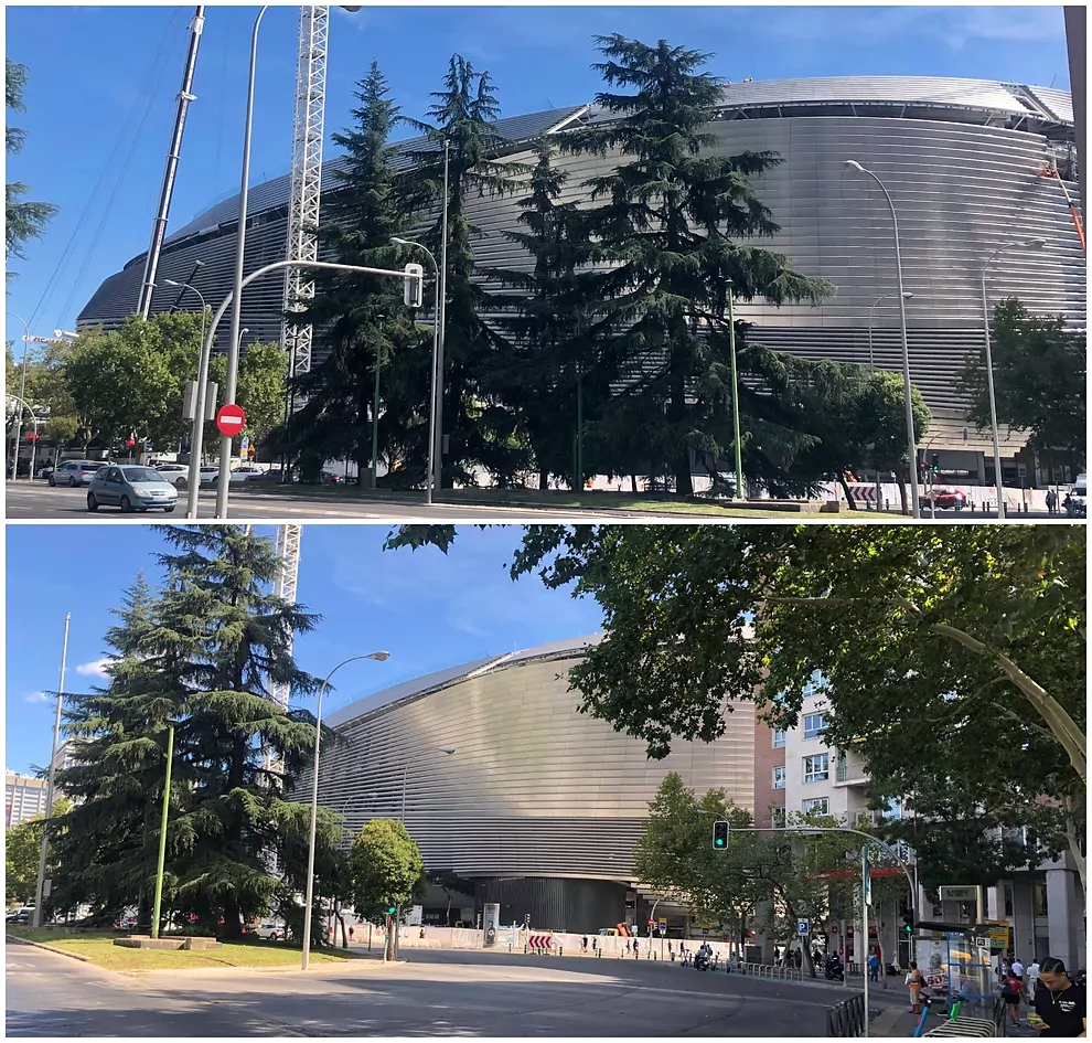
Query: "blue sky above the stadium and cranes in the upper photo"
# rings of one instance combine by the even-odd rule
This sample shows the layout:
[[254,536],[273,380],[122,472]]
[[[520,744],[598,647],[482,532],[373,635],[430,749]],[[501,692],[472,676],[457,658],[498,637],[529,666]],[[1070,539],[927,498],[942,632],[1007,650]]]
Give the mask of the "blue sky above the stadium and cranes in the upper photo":
[[[207,9],[169,232],[238,189],[256,10]],[[98,284],[148,245],[192,11],[6,8],[7,54],[30,70],[28,111],[13,120],[29,139],[8,180],[61,206],[8,285],[6,310],[34,334],[72,329]],[[255,182],[290,163],[297,18],[276,7],[263,22]],[[505,115],[589,102],[600,88],[591,36],[611,32],[714,51],[709,67],[728,79],[919,74],[1069,86],[1060,7],[371,7],[335,9],[331,23],[328,132],[346,125],[373,57],[407,116],[425,114],[454,52],[490,71]],[[21,332],[9,319],[8,339]]]

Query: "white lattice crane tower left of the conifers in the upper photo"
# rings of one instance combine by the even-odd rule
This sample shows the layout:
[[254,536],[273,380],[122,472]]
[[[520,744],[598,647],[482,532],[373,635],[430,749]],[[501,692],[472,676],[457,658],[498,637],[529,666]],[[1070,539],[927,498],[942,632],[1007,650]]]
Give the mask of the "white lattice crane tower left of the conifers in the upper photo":
[[[292,134],[292,183],[288,201],[286,260],[317,260],[319,193],[322,189],[322,131],[326,107],[326,38],[330,8],[300,8],[299,66],[296,73],[296,124]],[[313,272],[287,268],[285,311],[301,311],[314,298]],[[281,326],[292,376],[311,371],[311,327]],[[297,403],[299,405],[299,403]]]

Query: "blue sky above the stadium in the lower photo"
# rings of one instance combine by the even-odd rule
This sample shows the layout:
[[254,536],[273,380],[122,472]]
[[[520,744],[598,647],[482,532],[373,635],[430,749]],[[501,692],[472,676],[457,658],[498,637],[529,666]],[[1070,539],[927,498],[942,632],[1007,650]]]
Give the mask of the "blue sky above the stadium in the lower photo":
[[[257,526],[272,534],[271,526]],[[386,662],[345,667],[328,695],[333,711],[432,670],[546,641],[592,634],[591,600],[547,590],[535,577],[513,584],[505,563],[517,528],[463,529],[447,556],[435,549],[383,551],[387,525],[308,525],[299,599],[323,617],[296,643],[300,666],[319,677],[342,659],[385,649]],[[104,636],[140,570],[160,578],[165,549],[147,525],[7,526],[7,767],[44,765],[53,741],[64,616],[72,613],[65,689],[103,680]]]

